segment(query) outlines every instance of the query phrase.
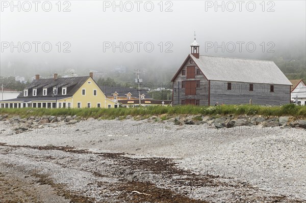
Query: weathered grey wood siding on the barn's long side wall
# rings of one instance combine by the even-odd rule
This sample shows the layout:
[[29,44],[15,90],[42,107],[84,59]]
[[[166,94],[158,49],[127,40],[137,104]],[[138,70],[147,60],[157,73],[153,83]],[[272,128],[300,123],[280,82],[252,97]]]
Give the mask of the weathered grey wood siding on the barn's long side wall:
[[227,81],[211,80],[210,105],[219,104],[269,104],[281,105],[290,103],[290,85],[274,84],[274,92],[270,92],[270,84],[252,83],[253,91],[249,91],[249,84],[232,82],[232,90],[227,90]]

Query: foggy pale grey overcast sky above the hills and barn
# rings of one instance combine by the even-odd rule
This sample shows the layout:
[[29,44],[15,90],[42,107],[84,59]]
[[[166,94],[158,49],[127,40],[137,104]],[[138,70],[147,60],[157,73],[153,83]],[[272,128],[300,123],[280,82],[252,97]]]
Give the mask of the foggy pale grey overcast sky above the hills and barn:
[[[12,67],[18,74],[18,68],[37,66],[179,68],[190,53],[194,31],[203,55],[257,59],[281,48],[305,46],[305,1],[218,1],[219,7],[215,1],[116,1],[117,7],[113,1],[57,2],[15,1],[13,7],[11,1],[1,1],[2,75],[13,75],[8,71]],[[26,66],[14,66],[20,63]]]

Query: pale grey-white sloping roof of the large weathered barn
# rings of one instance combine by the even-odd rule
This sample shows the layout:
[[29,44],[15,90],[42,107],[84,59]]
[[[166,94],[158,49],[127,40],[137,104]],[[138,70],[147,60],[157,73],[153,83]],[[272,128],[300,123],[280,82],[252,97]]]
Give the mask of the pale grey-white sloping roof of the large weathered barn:
[[291,85],[272,61],[189,54],[208,80]]

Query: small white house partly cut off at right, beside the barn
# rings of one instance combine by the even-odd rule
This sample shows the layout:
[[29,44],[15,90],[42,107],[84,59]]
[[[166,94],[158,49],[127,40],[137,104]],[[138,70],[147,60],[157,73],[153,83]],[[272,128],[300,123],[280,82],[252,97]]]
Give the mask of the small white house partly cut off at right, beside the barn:
[[306,105],[306,84],[302,79],[290,80],[291,86],[291,102],[297,99],[298,105]]

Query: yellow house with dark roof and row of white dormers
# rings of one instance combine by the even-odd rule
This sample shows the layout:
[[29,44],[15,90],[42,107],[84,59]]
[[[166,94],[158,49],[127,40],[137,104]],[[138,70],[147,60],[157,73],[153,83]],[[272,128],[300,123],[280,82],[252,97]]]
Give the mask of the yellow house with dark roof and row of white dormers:
[[16,99],[3,100],[1,108],[117,108],[93,80],[93,73],[84,77],[40,79],[36,75]]

